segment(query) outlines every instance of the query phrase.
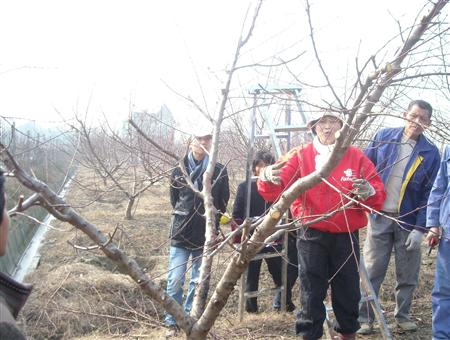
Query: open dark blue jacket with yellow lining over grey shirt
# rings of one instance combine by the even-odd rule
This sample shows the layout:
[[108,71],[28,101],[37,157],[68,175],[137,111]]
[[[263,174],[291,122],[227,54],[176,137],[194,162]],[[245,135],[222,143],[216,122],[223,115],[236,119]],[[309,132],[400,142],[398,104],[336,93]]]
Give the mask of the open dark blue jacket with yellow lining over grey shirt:
[[[403,127],[380,130],[365,151],[367,157],[375,164],[384,185],[387,185],[392,166],[397,160],[397,146],[402,139],[403,130]],[[428,196],[436,178],[439,163],[437,147],[423,134],[420,135],[403,173],[398,203],[399,220],[403,228],[426,231],[424,228]]]

